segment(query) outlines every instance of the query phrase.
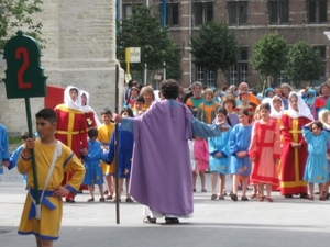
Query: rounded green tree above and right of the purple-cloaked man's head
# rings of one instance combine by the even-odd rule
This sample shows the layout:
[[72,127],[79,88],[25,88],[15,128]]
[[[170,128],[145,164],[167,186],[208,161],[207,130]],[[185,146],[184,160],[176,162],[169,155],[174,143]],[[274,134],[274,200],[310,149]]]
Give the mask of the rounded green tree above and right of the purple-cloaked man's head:
[[200,26],[197,37],[190,37],[193,63],[206,71],[226,71],[238,61],[240,47],[232,31],[226,23],[210,21]]

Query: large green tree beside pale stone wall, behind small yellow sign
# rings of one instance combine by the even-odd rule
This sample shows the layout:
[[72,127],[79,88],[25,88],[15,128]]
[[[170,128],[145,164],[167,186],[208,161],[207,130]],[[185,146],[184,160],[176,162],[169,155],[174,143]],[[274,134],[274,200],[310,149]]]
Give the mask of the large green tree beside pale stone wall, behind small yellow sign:
[[125,68],[125,48],[140,47],[141,63],[131,64],[131,70],[139,70],[141,77],[147,65],[150,70],[164,68],[166,64],[167,78],[180,79],[182,49],[168,36],[167,29],[161,27],[158,14],[151,14],[151,9],[133,4],[130,19],[118,23],[117,57]]

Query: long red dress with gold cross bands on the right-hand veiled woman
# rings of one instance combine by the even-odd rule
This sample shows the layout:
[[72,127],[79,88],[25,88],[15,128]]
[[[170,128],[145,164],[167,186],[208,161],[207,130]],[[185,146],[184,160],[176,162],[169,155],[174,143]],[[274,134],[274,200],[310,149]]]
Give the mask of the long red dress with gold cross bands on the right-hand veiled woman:
[[[280,194],[307,194],[307,182],[304,181],[307,144],[302,137],[302,126],[311,120],[300,116],[290,117],[289,113],[282,116],[280,134],[284,138],[280,166]],[[292,147],[292,143],[300,143],[299,147]]]

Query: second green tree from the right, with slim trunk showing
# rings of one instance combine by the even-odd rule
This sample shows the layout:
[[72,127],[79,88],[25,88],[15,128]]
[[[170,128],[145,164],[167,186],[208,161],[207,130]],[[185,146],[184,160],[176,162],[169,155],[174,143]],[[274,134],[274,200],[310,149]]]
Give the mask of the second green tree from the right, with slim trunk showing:
[[287,55],[287,42],[277,32],[262,36],[253,46],[252,66],[265,78],[263,90],[265,89],[266,78],[276,77],[285,68]]

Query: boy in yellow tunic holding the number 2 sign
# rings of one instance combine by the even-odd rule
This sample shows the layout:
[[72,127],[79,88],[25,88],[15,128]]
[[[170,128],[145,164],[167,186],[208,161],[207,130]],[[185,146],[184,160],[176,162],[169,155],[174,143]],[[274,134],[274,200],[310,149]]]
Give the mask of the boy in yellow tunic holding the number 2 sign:
[[[63,202],[62,197],[77,193],[85,176],[85,168],[73,150],[55,138],[57,127],[56,112],[43,109],[35,114],[36,131],[40,138],[28,138],[18,162],[18,170],[26,173],[30,188],[21,217],[19,234],[34,234],[37,247],[52,247],[58,239]],[[40,207],[35,206],[34,177],[31,149],[34,149]],[[64,172],[73,178],[63,187]]]

